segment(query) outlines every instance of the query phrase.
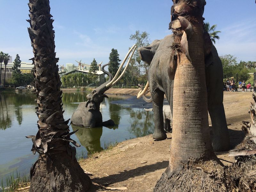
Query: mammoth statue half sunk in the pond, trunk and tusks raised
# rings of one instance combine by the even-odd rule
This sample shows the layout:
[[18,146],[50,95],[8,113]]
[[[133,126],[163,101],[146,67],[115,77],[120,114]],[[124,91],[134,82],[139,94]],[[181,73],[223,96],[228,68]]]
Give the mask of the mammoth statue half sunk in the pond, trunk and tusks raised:
[[[115,125],[114,121],[111,119],[108,121],[102,122],[102,115],[100,113],[100,103],[103,101],[103,99],[105,97],[108,98],[108,96],[105,95],[104,92],[106,92],[111,86],[116,84],[116,82],[119,79],[121,79],[122,76],[124,75],[124,72],[127,69],[135,50],[136,50],[136,46],[133,45],[132,48],[127,53],[127,55],[125,56],[122,64],[118,68],[116,75],[114,77],[111,75],[111,73],[104,70],[104,68],[108,64],[106,64],[102,67],[102,71],[109,76],[109,80],[106,83],[95,88],[90,94],[88,94],[86,96],[86,98],[87,98],[86,102],[79,103],[76,111],[73,113],[73,115],[71,117],[72,124],[78,125],[78,126],[84,126],[84,127],[99,127],[99,126]],[[130,55],[131,52],[132,52],[132,54],[131,54],[123,72],[118,77],[125,61],[127,60],[128,56]]]

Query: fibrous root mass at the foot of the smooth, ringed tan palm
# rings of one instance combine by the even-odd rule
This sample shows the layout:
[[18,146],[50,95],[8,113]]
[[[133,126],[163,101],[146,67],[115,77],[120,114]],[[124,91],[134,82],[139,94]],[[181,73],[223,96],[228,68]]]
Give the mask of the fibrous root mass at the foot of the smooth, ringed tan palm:
[[219,192],[229,191],[229,184],[225,167],[215,160],[201,160],[185,164],[178,173],[170,174],[167,168],[154,188],[154,192],[158,191]]

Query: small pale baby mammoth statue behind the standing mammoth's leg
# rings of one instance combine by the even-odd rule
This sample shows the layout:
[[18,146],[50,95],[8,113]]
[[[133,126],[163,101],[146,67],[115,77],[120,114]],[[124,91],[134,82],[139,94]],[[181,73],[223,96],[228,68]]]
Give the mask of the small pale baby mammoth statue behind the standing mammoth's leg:
[[[145,109],[145,110],[153,111],[153,108]],[[172,132],[172,112],[169,105],[163,105],[163,119],[164,119],[164,131]]]

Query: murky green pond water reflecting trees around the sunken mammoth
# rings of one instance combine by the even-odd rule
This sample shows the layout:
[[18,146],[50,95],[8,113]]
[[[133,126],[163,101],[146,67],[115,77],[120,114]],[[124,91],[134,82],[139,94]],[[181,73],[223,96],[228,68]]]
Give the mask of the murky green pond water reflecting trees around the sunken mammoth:
[[[78,103],[86,101],[85,92],[63,93],[64,118],[71,118]],[[103,121],[112,119],[115,126],[83,128],[74,125],[70,131],[78,129],[72,139],[81,144],[76,148],[77,156],[87,156],[87,153],[101,151],[108,144],[148,135],[154,130],[153,112],[145,111],[151,108],[151,103],[131,97],[111,97],[105,99],[100,111]],[[27,135],[35,135],[37,116],[35,113],[36,96],[30,92],[0,92],[0,181],[15,173],[28,174],[31,165],[36,161],[33,155],[31,139]],[[5,179],[4,179],[5,180]]]

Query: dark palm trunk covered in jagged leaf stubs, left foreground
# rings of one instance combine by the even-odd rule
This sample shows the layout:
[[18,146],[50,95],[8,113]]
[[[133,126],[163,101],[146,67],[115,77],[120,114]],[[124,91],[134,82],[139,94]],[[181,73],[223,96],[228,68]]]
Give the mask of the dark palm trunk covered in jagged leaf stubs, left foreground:
[[38,132],[32,138],[32,151],[39,153],[31,168],[30,191],[87,191],[91,181],[76,161],[76,142],[70,139],[68,121],[64,121],[55,58],[53,20],[49,0],[29,0],[30,27],[28,28],[34,52],[36,113]]

